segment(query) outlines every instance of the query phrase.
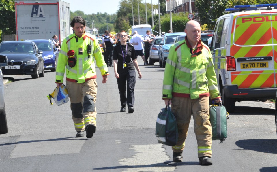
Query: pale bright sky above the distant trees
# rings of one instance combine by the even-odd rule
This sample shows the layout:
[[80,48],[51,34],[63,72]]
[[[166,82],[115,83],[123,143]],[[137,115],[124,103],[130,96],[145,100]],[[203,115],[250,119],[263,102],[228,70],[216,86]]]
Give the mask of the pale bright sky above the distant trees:
[[[83,11],[85,14],[97,14],[97,12],[115,14],[119,8],[121,0],[62,0],[70,3],[70,11]],[[145,0],[142,0],[145,3]],[[151,3],[151,0],[146,0]],[[158,0],[152,0],[153,5],[158,4]],[[85,5],[84,5],[85,4]]]

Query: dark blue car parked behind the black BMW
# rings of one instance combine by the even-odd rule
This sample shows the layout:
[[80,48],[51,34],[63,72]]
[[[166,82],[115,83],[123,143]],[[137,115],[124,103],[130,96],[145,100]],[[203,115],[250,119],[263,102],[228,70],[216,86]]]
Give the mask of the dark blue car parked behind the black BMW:
[[53,44],[50,39],[35,39],[29,40],[35,42],[39,50],[42,50],[42,57],[44,59],[44,70],[49,69],[51,71],[56,71],[57,59],[59,56],[59,50]]

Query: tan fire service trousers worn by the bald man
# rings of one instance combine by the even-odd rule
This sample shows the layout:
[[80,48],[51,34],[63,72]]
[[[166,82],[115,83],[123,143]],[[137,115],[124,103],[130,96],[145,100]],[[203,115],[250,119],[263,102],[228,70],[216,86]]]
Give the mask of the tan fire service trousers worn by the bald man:
[[177,145],[172,147],[174,152],[183,152],[188,135],[191,115],[194,120],[194,133],[198,146],[198,157],[212,156],[212,126],[209,121],[209,97],[190,99],[189,97],[173,97],[172,112],[178,126]]

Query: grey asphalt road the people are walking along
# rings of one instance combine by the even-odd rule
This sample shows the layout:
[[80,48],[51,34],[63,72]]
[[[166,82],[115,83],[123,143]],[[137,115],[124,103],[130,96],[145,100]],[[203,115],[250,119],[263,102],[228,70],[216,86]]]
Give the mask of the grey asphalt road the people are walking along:
[[[139,64],[143,61],[139,58]],[[213,165],[197,158],[193,119],[184,159],[172,162],[171,147],[154,135],[156,118],[165,107],[161,100],[164,68],[140,65],[134,113],[120,113],[113,68],[106,84],[97,78],[97,128],[92,139],[76,138],[70,103],[50,105],[55,72],[44,78],[4,75],[8,133],[0,135],[0,171],[277,171],[275,106],[270,102],[236,103],[230,114],[228,138],[213,141]],[[97,69],[98,76],[100,76]]]

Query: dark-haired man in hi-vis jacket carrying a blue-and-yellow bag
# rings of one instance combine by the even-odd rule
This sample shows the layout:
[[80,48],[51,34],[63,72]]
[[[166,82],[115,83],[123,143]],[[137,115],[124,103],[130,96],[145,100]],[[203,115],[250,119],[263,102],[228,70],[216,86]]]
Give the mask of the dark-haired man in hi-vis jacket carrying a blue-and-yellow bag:
[[63,84],[66,73],[66,88],[70,97],[70,108],[76,137],[91,138],[96,129],[96,65],[106,83],[108,67],[104,62],[99,42],[94,35],[85,32],[86,22],[76,16],[70,23],[74,33],[63,40],[56,68],[57,87]]

